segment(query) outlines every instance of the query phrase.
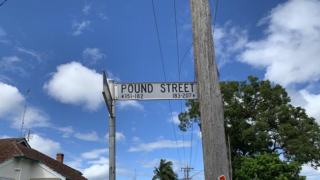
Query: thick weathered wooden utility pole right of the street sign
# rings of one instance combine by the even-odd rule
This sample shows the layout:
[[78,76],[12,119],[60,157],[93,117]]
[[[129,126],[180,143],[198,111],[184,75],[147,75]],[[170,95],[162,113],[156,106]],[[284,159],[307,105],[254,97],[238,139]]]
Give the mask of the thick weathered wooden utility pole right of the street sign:
[[190,0],[193,54],[201,116],[205,180],[230,180],[224,132],[224,109],[215,60],[208,0]]

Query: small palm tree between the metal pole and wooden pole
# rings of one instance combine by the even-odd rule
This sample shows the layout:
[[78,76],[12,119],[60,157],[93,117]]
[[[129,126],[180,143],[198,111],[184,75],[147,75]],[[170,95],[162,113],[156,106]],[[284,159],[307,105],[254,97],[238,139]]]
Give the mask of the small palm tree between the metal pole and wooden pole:
[[172,162],[168,161],[165,162],[165,159],[160,160],[160,165],[158,168],[155,167],[156,170],[153,172],[155,173],[155,176],[152,178],[152,180],[177,180],[178,175],[173,172],[172,169]]

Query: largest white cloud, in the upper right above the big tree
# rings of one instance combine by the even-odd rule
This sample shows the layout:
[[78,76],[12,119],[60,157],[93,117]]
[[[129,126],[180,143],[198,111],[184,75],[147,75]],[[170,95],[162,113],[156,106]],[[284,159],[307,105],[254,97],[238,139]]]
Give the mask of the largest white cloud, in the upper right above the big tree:
[[250,41],[242,62],[266,68],[265,78],[287,86],[320,79],[320,1],[289,0],[273,8],[258,25],[265,37]]

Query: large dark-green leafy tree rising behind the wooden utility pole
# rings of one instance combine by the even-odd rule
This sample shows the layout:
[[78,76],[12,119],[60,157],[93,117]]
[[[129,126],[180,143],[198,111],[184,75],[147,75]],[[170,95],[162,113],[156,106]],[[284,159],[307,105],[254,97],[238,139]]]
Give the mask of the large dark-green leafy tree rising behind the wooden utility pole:
[[[221,82],[226,134],[230,135],[232,166],[236,156],[260,153],[283,154],[287,161],[320,166],[320,128],[305,109],[289,104],[290,97],[270,81]],[[199,103],[189,100],[189,110],[179,115],[182,131],[192,121],[200,124]]]

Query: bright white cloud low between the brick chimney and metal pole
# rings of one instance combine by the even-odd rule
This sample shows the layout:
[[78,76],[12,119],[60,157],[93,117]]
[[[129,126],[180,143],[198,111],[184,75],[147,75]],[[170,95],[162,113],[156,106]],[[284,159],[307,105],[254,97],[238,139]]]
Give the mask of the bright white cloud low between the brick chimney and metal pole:
[[106,180],[109,177],[109,165],[92,165],[83,171],[83,176],[89,180]]

